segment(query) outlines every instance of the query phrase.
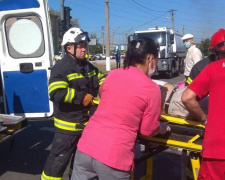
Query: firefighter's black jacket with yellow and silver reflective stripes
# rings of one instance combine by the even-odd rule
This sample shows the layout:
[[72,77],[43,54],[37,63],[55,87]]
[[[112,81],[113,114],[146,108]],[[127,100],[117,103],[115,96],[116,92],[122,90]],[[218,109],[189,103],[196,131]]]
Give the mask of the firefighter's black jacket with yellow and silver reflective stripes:
[[81,102],[87,93],[97,96],[104,79],[104,74],[86,60],[78,61],[66,54],[56,63],[49,79],[49,96],[54,105],[54,117],[60,120],[55,121],[56,129],[70,134],[82,130],[75,129],[75,126],[76,123],[88,121],[89,106],[85,107]]

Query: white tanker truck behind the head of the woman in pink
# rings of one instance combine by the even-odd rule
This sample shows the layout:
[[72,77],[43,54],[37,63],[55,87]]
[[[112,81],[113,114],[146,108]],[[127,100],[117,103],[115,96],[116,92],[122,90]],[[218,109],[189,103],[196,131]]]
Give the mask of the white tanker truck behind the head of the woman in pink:
[[184,73],[186,49],[181,40],[182,35],[167,27],[156,27],[135,31],[128,37],[128,41],[142,37],[151,38],[159,45],[159,61],[155,75],[168,74],[172,78]]

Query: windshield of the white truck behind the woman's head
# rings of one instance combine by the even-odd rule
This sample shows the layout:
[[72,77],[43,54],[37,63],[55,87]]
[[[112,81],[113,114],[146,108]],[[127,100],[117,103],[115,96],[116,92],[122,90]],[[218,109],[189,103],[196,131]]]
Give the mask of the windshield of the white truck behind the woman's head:
[[166,45],[166,33],[165,32],[146,32],[146,33],[136,33],[135,39],[140,39],[142,37],[151,38],[155,43],[159,43],[160,46]]

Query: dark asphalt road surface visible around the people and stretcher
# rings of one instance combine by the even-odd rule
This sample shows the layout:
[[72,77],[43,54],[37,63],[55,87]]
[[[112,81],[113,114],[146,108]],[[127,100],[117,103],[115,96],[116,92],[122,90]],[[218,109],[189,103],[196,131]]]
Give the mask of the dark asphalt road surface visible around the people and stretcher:
[[[163,79],[170,83],[183,80],[183,76]],[[157,78],[158,79],[158,78]],[[0,179],[1,180],[40,180],[46,158],[51,149],[54,135],[52,119],[29,119],[28,128],[17,134],[10,151],[10,140],[0,144]],[[137,150],[138,151],[138,150]],[[68,180],[68,168],[63,180]],[[144,166],[136,167],[139,179]],[[168,149],[154,156],[153,180],[180,180],[181,152]]]

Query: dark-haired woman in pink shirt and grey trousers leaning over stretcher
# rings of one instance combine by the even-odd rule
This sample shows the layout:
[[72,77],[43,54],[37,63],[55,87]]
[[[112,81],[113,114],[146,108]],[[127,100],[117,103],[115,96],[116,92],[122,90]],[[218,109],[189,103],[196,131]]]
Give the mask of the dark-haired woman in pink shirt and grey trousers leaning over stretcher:
[[159,130],[161,95],[150,78],[158,61],[153,40],[129,43],[124,68],[111,71],[100,104],[77,145],[71,180],[130,178],[137,134]]

